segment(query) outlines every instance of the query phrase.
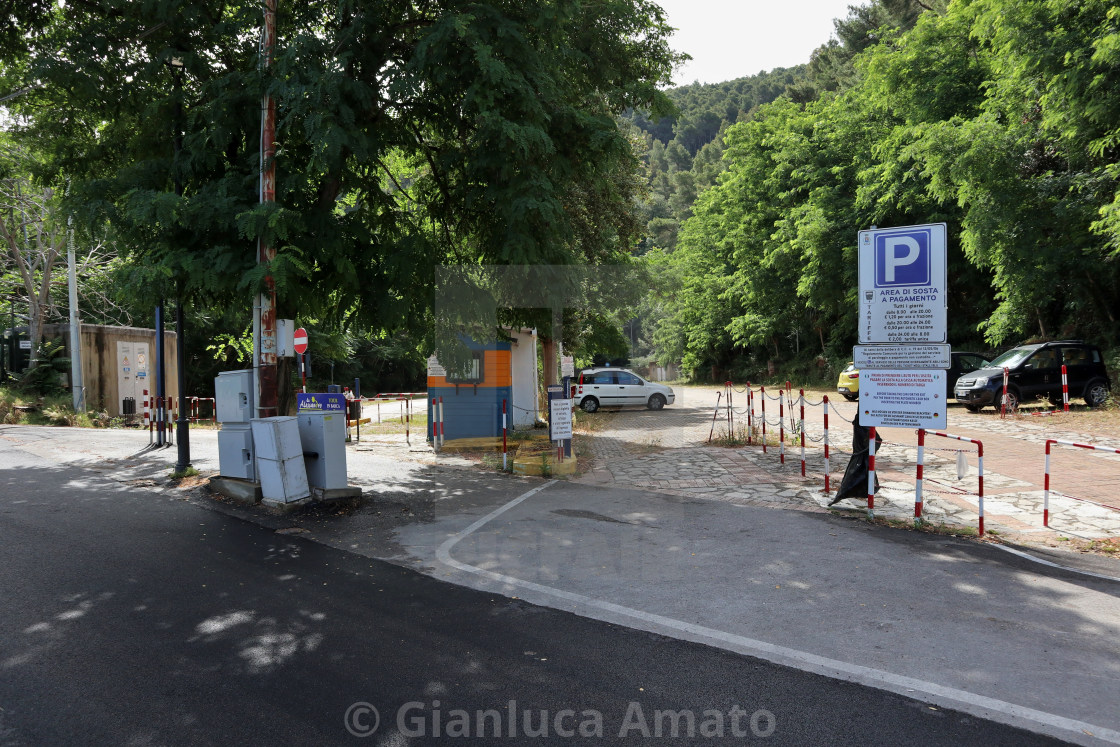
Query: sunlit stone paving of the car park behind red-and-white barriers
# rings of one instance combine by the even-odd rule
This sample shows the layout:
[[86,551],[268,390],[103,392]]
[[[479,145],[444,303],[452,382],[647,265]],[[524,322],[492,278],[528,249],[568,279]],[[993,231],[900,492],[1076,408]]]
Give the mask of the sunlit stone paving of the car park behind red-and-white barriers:
[[[662,412],[622,411],[605,413],[612,418],[589,436],[592,464],[579,482],[727,501],[738,504],[769,505],[802,511],[823,511],[832,495],[823,492],[822,408],[806,409],[806,477],[801,476],[800,445],[785,448],[785,464],[772,446],[764,454],[752,447],[720,448],[706,446],[712,428],[716,389],[685,390],[683,402]],[[745,428],[746,396],[736,394],[732,405]],[[794,394],[796,398],[796,394]],[[808,399],[808,398],[806,398]],[[726,403],[726,400],[724,401]],[[741,405],[741,407],[740,407]],[[756,396],[754,422],[760,413]],[[831,488],[840,482],[850,452],[851,427],[856,405],[830,403],[829,440],[831,448]],[[775,402],[767,402],[766,421],[772,432],[777,428]],[[727,435],[724,409],[716,421],[716,435]],[[786,413],[787,431],[796,431]],[[1062,454],[1061,483],[1051,493],[1051,527],[1043,526],[1043,445],[1046,439],[1063,439],[1120,448],[1114,440],[1089,433],[1057,430],[1045,418],[1023,415],[1000,420],[976,415],[963,409],[950,410],[949,432],[984,442],[984,525],[989,531],[1021,539],[1045,539],[1056,534],[1083,538],[1120,535],[1120,511],[1096,505],[1120,505],[1120,455],[1067,449]],[[756,431],[757,432],[757,431]],[[914,516],[915,466],[917,445],[914,431],[887,429],[884,447],[877,455],[880,492],[876,495],[877,516],[909,520]],[[837,448],[839,447],[839,448]],[[656,449],[651,454],[650,449]],[[965,474],[958,475],[958,455],[963,454]],[[923,516],[932,523],[977,526],[979,519],[979,470],[977,449],[927,437]],[[1082,499],[1076,499],[1077,497]],[[1096,503],[1093,503],[1095,501]],[[864,508],[866,501],[844,499],[841,508]]]

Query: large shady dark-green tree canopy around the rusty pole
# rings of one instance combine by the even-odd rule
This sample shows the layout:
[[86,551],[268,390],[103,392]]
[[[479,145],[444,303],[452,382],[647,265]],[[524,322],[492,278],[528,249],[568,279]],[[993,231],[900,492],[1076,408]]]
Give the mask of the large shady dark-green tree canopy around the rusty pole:
[[[13,100],[21,137],[73,175],[144,298],[231,306],[270,273],[281,312],[417,328],[440,263],[629,249],[619,174],[636,164],[615,116],[668,113],[657,85],[679,59],[654,3],[282,3],[268,68],[259,25],[248,0],[86,0],[55,7],[6,66],[10,88],[41,83]],[[264,90],[280,105],[272,206],[255,198]],[[267,268],[260,236],[278,248]]]

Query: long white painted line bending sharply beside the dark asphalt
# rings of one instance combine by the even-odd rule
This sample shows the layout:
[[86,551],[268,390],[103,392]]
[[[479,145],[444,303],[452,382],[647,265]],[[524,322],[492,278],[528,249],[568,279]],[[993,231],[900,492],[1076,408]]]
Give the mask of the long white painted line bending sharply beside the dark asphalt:
[[543,485],[534,487],[532,491],[517,496],[513,501],[486,514],[475,523],[467,526],[465,530],[451,535],[442,544],[440,544],[439,548],[437,548],[436,558],[438,558],[445,566],[466,573],[483,576],[494,581],[520,587],[522,589],[529,589],[550,597],[564,599],[582,607],[590,607],[592,609],[600,609],[615,615],[628,617],[631,619],[640,620],[647,625],[662,628],[661,632],[664,632],[664,629],[668,628],[679,633],[684,633],[687,634],[688,639],[718,642],[720,644],[725,644],[719,646],[721,648],[728,648],[729,651],[734,651],[736,653],[763,659],[775,664],[791,666],[793,669],[811,672],[813,674],[823,674],[824,676],[838,680],[866,684],[868,687],[887,690],[906,698],[916,699],[918,694],[922,694],[926,697],[925,700],[939,706],[955,708],[958,710],[972,713],[973,716],[1007,723],[1009,726],[1033,729],[1035,731],[1039,730],[1038,727],[1043,727],[1042,730],[1046,734],[1060,736],[1062,738],[1082,744],[1092,744],[1099,740],[1120,744],[1120,731],[1095,726],[1086,721],[1079,721],[1064,716],[1057,716],[1056,713],[1047,713],[1046,711],[1039,711],[1034,708],[1017,706],[1015,703],[997,700],[995,698],[988,698],[987,695],[969,692],[967,690],[937,684],[936,682],[927,682],[925,680],[917,680],[902,674],[894,674],[892,672],[885,672],[869,666],[860,666],[859,664],[851,664],[836,659],[829,659],[827,656],[818,656],[816,654],[812,654],[806,651],[799,651],[787,646],[778,646],[772,643],[766,643],[765,641],[757,641],[755,638],[736,635],[735,633],[727,633],[726,631],[717,631],[703,625],[673,619],[671,617],[665,617],[664,615],[655,615],[642,611],[641,609],[623,607],[622,605],[603,601],[601,599],[594,599],[581,594],[556,589],[542,583],[525,581],[513,576],[497,573],[486,570],[485,568],[478,568],[477,566],[459,562],[458,560],[451,558],[451,549],[456,544],[478,531],[480,527],[485,526],[488,522],[524,503],[526,499],[536,495],[544,488],[554,485],[556,482],[557,480],[549,480]]

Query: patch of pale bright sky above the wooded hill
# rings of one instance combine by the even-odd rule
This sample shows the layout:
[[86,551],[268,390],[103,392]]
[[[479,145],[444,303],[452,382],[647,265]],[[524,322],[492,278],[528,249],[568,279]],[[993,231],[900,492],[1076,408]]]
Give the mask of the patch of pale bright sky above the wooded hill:
[[775,67],[808,63],[832,36],[832,19],[861,0],[657,0],[676,52],[692,60],[673,74],[675,85],[721,83]]

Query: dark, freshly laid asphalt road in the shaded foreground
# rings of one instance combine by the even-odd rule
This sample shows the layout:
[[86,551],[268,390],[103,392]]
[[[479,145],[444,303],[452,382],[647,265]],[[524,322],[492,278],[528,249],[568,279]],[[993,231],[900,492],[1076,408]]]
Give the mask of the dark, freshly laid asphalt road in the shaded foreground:
[[659,728],[668,744],[1051,741],[452,586],[6,443],[0,605],[0,745],[610,744]]

